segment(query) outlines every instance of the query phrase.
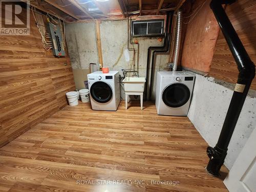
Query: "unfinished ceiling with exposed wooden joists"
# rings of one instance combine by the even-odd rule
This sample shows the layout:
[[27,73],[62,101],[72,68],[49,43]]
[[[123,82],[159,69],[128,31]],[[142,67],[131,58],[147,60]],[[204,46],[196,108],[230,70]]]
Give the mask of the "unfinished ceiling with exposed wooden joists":
[[[92,12],[89,12],[88,7],[81,5],[84,3],[80,3],[84,1],[86,1],[86,3],[93,2],[93,4],[98,7],[97,10],[92,9]],[[166,12],[169,10],[174,10],[175,12],[178,12],[180,7],[184,4],[185,0],[151,0],[151,3],[149,3],[149,0],[129,0],[129,2],[127,2],[127,0],[110,0],[110,2],[105,2],[103,0],[65,0],[65,3],[63,0],[41,0],[41,2],[46,2],[47,6],[44,6],[46,4],[40,3],[39,5],[37,5],[36,8],[41,8],[40,10],[44,9],[42,10],[44,12],[56,12],[57,15],[61,15],[58,17],[62,20],[74,22],[75,19],[82,20],[84,18],[116,18],[117,15],[120,16],[120,13],[117,14],[117,12],[121,12],[123,18],[132,15],[159,15],[160,12]],[[176,5],[175,7],[173,6],[174,4]],[[144,10],[142,10],[142,7]],[[96,14],[96,12],[99,10],[103,14]],[[95,13],[93,11],[95,11]]]

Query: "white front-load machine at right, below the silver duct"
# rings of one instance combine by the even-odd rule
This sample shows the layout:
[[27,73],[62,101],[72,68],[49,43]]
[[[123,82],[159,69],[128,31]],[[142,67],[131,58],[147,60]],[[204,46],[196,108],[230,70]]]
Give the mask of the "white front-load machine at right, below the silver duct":
[[158,115],[186,116],[195,76],[186,72],[158,72],[156,109]]

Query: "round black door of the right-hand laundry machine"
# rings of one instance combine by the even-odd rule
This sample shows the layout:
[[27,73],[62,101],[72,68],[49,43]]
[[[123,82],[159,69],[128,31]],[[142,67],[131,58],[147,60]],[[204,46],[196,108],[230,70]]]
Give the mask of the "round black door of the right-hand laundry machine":
[[167,86],[162,93],[163,102],[171,108],[179,108],[186,104],[190,98],[190,91],[182,83],[174,83]]

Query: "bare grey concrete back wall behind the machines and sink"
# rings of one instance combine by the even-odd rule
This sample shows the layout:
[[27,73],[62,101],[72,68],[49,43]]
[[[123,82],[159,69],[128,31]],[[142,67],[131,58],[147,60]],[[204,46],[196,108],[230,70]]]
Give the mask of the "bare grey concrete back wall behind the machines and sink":
[[[129,62],[125,61],[124,57],[124,50],[127,49],[127,27],[127,19],[102,21],[100,23],[103,66],[108,66],[110,70],[117,70],[120,73],[121,69],[131,68],[130,66],[133,59],[133,51],[130,51]],[[147,48],[149,46],[162,46],[163,42],[159,42],[157,38],[150,37],[140,37],[136,39],[139,41],[139,75],[140,77],[145,77]],[[73,69],[88,70],[90,62],[98,63],[94,21],[67,24],[66,40]],[[130,48],[132,48],[132,46],[130,46]],[[134,45],[134,48],[136,50],[135,59],[137,62],[137,45]],[[167,62],[168,54],[158,54],[156,56],[153,98],[155,98],[157,71],[166,68]],[[123,89],[121,88],[121,90]],[[123,91],[121,91],[121,96],[124,98]]]

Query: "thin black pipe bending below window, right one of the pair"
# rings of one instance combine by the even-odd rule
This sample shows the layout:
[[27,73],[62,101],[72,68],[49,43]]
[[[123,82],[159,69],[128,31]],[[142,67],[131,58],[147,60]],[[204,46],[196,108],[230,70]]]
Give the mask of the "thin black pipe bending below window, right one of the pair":
[[144,96],[144,99],[147,100],[147,87],[148,87],[148,74],[150,73],[150,54],[151,54],[151,51],[152,50],[156,50],[156,49],[163,49],[165,48],[166,46],[166,39],[167,39],[167,36],[168,36],[168,23],[169,23],[169,17],[172,13],[169,12],[167,14],[167,17],[166,17],[166,23],[165,23],[165,32],[164,32],[164,43],[163,43],[163,46],[160,46],[160,47],[156,47],[156,46],[150,46],[147,48],[147,60],[146,60],[146,82],[145,82],[145,96]]

